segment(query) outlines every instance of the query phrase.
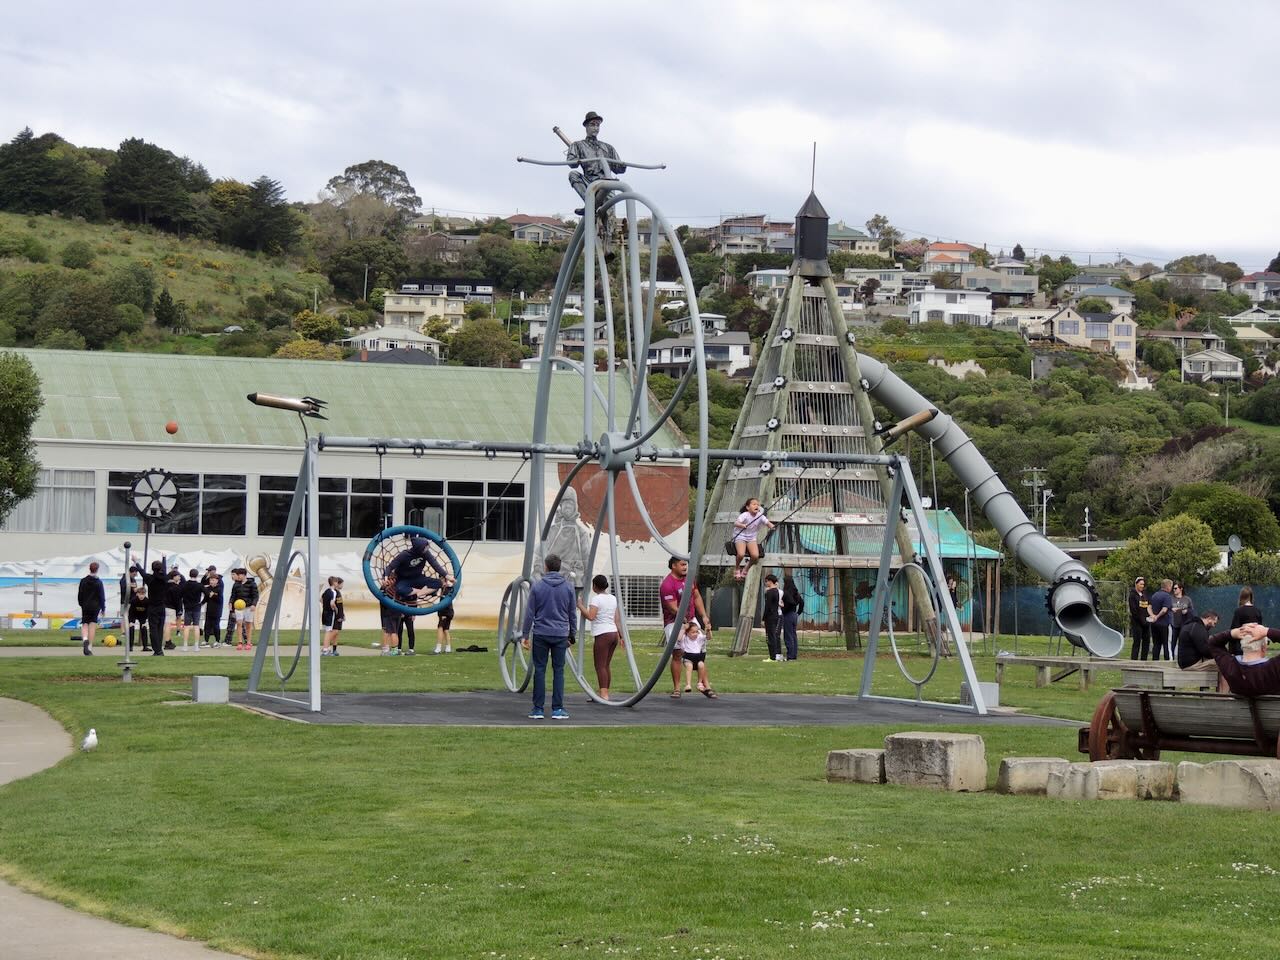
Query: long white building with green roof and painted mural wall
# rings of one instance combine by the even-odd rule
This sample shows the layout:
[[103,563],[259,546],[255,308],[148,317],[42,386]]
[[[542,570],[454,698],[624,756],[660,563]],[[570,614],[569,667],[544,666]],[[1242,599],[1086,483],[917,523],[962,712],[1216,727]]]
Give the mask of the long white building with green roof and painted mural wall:
[[[183,562],[220,554],[251,568],[265,558],[274,568],[303,435],[297,416],[256,407],[246,393],[269,390],[328,401],[328,420],[311,426],[329,435],[495,442],[532,436],[538,378],[521,370],[18,352],[42,383],[45,403],[33,428],[41,471],[35,497],[19,504],[3,527],[0,562],[40,567],[47,558],[95,557],[105,564],[109,604],[118,596],[114,582],[123,571],[123,541],[142,553],[142,521],[132,507],[129,486],[150,467],[173,472],[182,492],[178,509],[151,534],[150,559],[165,556]],[[581,376],[557,374],[548,442],[581,439]],[[599,406],[595,417],[603,422]],[[177,434],[165,433],[168,420],[177,421]],[[654,443],[677,447],[681,442],[664,429]],[[550,506],[561,476],[575,462],[572,457],[547,458],[543,508]],[[413,456],[406,451],[379,458],[372,449],[329,449],[320,453],[319,470],[324,562],[311,573],[323,582],[342,571],[349,626],[378,622],[378,605],[358,571],[366,544],[384,524],[416,524],[443,532],[458,556],[467,557],[458,626],[495,625],[503,590],[520,576],[524,557],[527,462],[518,456],[490,458],[470,452]],[[672,503],[671,490],[687,489],[687,463],[645,465],[637,479],[659,532],[684,545],[689,508],[684,500]],[[596,489],[604,489],[595,468],[584,470],[575,486],[581,517],[594,522],[600,506]],[[637,517],[628,518],[623,511],[620,524],[628,547],[621,550],[625,576],[620,588],[625,593],[635,588],[636,603],[648,604],[630,604],[628,617],[655,617],[667,552]],[[69,585],[42,589],[69,589],[74,598],[81,575]],[[22,586],[0,586],[0,611],[20,613],[28,602]],[[259,609],[265,612],[265,604]]]

